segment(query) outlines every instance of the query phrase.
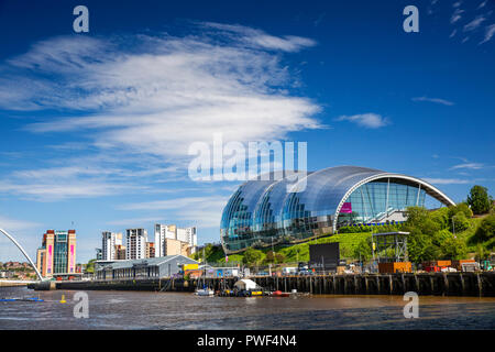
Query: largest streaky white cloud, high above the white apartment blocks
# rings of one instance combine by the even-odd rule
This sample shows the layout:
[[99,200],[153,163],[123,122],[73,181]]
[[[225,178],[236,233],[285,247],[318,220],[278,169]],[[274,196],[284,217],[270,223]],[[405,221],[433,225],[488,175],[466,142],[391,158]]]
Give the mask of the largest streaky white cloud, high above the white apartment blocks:
[[173,163],[184,163],[190,143],[210,142],[213,133],[222,132],[224,142],[245,142],[321,128],[314,118],[320,107],[287,94],[294,81],[273,53],[297,52],[315,45],[312,40],[204,25],[213,34],[37,43],[2,67],[0,106],[76,112],[28,130],[78,131],[99,148]]

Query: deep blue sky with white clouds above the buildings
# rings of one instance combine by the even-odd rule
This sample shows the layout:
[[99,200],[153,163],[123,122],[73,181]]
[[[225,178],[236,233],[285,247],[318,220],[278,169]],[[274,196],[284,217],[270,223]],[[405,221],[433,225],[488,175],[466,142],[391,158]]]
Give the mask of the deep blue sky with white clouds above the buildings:
[[[89,9],[89,33],[73,9]],[[403,9],[419,10],[405,33]],[[308,143],[308,168],[493,194],[495,2],[0,2],[0,226],[34,256],[75,228],[198,226],[219,241],[239,182],[193,182],[188,146]],[[21,258],[0,239],[0,261]]]

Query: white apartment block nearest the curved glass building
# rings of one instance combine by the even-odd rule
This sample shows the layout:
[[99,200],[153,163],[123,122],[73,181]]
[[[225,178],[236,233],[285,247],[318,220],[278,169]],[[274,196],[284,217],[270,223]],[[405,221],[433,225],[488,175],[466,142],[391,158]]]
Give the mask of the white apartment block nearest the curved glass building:
[[190,246],[191,252],[196,252],[196,246],[198,244],[198,238],[196,233],[196,227],[191,228],[177,228],[175,224],[155,224],[155,256],[165,256],[166,251],[166,241],[177,240],[184,243],[187,243]]

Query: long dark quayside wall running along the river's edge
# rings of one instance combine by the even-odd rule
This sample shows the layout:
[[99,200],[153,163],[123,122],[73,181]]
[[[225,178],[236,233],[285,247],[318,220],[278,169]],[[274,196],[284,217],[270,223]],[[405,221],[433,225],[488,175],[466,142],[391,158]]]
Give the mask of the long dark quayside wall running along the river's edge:
[[[326,276],[260,276],[250,277],[265,290],[309,293],[314,295],[418,295],[495,297],[495,272],[421,273],[421,274],[354,274]],[[51,282],[30,284],[34,289],[76,290],[147,290],[194,292],[207,285],[215,290],[233,287],[235,278],[141,278],[87,282]]]

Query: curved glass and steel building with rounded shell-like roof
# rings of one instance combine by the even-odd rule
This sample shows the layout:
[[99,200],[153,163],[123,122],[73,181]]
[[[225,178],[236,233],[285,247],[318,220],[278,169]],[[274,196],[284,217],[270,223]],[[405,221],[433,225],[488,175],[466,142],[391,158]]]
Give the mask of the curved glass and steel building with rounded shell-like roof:
[[427,196],[454,205],[425,180],[359,166],[307,173],[294,184],[290,177],[249,180],[223,209],[220,238],[226,253],[301,242],[342,226],[405,220],[405,209],[425,206]]

